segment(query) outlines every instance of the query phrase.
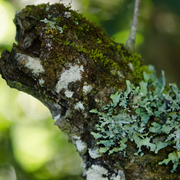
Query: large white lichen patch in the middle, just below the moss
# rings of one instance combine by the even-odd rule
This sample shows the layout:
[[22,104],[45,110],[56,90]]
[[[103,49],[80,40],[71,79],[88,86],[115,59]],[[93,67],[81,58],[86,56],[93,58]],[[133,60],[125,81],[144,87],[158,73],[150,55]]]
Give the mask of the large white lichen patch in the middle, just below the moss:
[[68,84],[81,80],[81,72],[84,72],[84,67],[81,65],[71,66],[68,70],[63,70],[59,81],[56,84],[55,91],[59,93],[62,89],[67,89]]

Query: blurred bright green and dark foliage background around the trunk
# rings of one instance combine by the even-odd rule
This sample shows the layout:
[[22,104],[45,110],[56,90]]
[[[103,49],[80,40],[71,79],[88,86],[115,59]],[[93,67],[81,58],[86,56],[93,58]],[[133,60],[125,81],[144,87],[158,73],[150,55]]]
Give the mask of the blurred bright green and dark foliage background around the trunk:
[[[27,2],[27,1],[26,1]],[[29,1],[29,4],[38,1]],[[42,2],[42,1],[41,1]],[[45,1],[43,1],[45,2]],[[59,2],[59,1],[57,1]],[[72,0],[84,16],[125,43],[132,22],[132,0]],[[0,0],[0,52],[10,50],[12,19],[23,0]],[[142,1],[136,51],[167,82],[180,85],[180,1]],[[53,125],[48,110],[34,98],[10,89],[0,79],[0,180],[80,180],[80,158],[67,136]]]

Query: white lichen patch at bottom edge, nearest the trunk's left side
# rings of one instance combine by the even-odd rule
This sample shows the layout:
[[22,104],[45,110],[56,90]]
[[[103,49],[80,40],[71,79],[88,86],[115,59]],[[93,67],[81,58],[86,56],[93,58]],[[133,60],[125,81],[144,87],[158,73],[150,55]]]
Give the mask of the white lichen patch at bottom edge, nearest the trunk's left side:
[[102,166],[92,165],[86,172],[86,180],[108,180],[107,177],[103,177],[103,175],[107,175],[108,170]]

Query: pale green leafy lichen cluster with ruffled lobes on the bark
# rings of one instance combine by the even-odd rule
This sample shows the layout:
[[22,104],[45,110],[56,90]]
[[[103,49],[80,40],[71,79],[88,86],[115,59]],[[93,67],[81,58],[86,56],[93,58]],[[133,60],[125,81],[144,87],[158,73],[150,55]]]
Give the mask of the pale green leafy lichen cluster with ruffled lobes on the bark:
[[91,110],[99,116],[97,131],[91,134],[98,140],[99,152],[109,155],[121,151],[126,156],[129,140],[138,148],[135,155],[141,156],[143,146],[156,154],[173,147],[159,165],[172,161],[174,172],[180,164],[180,90],[175,84],[165,86],[163,71],[160,79],[153,66],[148,71],[138,86],[127,80],[125,92],[112,94],[112,102],[104,106],[103,112]]

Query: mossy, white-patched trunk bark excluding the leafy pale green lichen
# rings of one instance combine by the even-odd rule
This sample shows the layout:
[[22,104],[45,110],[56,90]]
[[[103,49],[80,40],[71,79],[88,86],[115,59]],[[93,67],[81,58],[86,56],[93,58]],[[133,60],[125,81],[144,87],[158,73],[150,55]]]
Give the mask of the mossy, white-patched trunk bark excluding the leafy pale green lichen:
[[103,111],[110,95],[126,89],[126,80],[143,79],[139,55],[113,42],[104,30],[62,4],[27,6],[15,16],[16,41],[4,50],[0,73],[7,84],[39,99],[67,133],[83,160],[88,180],[178,179],[171,167],[157,166],[166,158],[149,152],[143,157],[128,142],[127,157],[97,152],[91,135],[99,119],[90,110]]

